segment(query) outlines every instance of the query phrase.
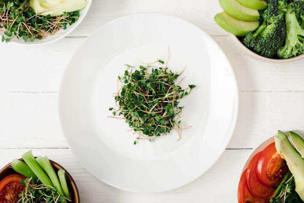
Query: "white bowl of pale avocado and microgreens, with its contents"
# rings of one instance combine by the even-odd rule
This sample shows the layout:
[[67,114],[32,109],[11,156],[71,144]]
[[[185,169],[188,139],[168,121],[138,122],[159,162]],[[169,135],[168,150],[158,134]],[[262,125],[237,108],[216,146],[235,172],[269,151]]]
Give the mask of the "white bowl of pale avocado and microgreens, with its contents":
[[2,43],[33,45],[62,39],[85,18],[92,0],[0,0]]

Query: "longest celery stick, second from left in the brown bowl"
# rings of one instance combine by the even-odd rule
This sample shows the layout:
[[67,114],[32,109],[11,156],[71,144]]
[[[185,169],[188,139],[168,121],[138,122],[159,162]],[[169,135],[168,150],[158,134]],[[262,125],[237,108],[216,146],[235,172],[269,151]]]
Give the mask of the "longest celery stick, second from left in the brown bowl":
[[39,180],[42,182],[42,184],[46,185],[48,188],[54,186],[52,181],[50,180],[50,178],[47,176],[47,174],[44,173],[42,168],[39,166],[39,164],[35,160],[32,150],[23,154],[22,159],[29,166],[29,168],[34,172],[34,174],[36,174],[36,176],[39,178]]

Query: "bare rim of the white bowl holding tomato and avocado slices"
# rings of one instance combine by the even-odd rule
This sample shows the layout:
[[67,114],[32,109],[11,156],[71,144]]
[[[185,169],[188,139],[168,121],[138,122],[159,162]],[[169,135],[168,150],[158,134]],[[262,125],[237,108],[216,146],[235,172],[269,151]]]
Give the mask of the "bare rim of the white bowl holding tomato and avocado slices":
[[[285,130],[282,130],[282,132],[284,132],[286,135],[289,136],[289,131],[292,131],[292,132],[295,132],[297,133],[299,136],[301,136],[302,138],[304,138],[304,129],[303,128],[297,128],[297,129],[285,129]],[[288,137],[289,138],[289,137]],[[247,160],[244,162],[244,165],[242,167],[242,170],[240,171],[240,174],[239,174],[239,178],[238,178],[238,181],[237,181],[237,189],[238,189],[238,186],[239,186],[239,182],[240,182],[240,179],[241,179],[241,176],[244,172],[244,170],[247,169],[249,163],[250,163],[250,160],[254,157],[254,155],[256,155],[257,153],[263,151],[269,144],[273,143],[275,141],[275,138],[274,136],[264,140],[261,144],[259,144],[256,148],[254,148],[253,152],[248,156]],[[291,142],[292,143],[292,142]],[[237,190],[236,190],[237,191]]]

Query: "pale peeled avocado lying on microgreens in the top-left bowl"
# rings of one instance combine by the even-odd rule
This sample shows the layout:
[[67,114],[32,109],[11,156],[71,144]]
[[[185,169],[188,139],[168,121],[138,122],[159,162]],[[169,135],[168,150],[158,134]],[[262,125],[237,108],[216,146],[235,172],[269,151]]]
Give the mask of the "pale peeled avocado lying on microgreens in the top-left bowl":
[[59,16],[64,12],[78,11],[87,5],[85,0],[29,0],[29,5],[39,15]]

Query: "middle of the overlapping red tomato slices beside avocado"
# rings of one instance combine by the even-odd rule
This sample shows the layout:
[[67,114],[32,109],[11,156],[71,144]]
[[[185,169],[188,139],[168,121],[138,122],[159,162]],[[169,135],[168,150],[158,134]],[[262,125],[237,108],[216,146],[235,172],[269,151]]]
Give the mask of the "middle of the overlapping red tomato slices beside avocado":
[[275,192],[274,187],[268,187],[260,183],[257,179],[256,169],[257,169],[257,160],[260,157],[261,152],[254,155],[252,160],[248,165],[248,169],[246,171],[246,184],[248,191],[255,198],[266,199],[270,198],[272,194]]

